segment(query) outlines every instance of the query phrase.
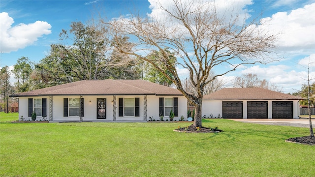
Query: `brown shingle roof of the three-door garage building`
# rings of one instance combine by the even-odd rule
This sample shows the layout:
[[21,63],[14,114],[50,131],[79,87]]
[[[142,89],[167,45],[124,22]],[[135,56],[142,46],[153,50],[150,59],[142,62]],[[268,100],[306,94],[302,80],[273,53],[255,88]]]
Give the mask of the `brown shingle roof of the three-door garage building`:
[[204,95],[203,100],[300,100],[298,96],[262,88],[225,88]]

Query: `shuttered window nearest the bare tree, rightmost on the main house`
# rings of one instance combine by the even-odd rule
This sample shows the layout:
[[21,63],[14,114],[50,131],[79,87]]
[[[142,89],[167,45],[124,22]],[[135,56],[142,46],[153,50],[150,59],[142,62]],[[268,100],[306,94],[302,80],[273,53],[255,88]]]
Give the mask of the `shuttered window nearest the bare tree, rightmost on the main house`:
[[159,98],[159,116],[169,116],[171,110],[178,117],[178,98]]

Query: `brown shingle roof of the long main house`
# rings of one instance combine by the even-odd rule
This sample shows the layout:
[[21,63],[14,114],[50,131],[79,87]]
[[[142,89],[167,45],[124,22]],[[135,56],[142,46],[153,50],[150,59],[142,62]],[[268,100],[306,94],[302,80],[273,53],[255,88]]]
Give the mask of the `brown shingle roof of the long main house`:
[[183,95],[179,90],[143,80],[84,80],[22,93],[19,96],[38,95]]

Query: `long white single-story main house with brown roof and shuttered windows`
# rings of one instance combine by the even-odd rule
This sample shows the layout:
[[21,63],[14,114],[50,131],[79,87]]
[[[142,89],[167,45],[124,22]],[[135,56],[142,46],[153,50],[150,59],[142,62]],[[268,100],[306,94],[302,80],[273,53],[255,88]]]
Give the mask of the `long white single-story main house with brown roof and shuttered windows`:
[[[174,88],[143,80],[83,80],[11,95],[19,98],[19,119],[61,121],[174,120],[187,116],[187,99]],[[187,118],[186,118],[187,119]]]

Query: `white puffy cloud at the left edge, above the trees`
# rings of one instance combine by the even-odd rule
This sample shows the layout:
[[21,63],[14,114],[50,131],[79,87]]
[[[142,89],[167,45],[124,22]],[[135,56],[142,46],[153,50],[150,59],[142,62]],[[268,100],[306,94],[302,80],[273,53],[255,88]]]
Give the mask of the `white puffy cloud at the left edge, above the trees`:
[[19,24],[11,27],[14,23],[8,13],[0,13],[0,52],[10,53],[32,45],[43,34],[51,33],[51,25],[47,22],[36,21],[32,24]]

